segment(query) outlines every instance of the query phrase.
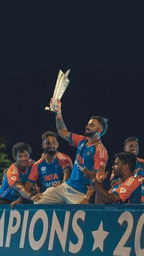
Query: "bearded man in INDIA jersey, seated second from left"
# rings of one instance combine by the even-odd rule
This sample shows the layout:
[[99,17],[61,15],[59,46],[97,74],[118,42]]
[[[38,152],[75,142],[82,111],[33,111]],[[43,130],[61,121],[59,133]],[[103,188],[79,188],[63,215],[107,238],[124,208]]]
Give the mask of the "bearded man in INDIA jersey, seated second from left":
[[[27,191],[31,191],[38,180],[41,182],[41,192],[43,192],[51,186],[55,188],[69,178],[73,163],[69,156],[57,151],[59,147],[57,137],[57,133],[53,131],[42,134],[42,147],[45,155],[32,167],[31,174],[24,185]],[[31,194],[29,199],[34,201],[34,196]],[[23,197],[13,202],[11,208],[21,201],[23,201]]]

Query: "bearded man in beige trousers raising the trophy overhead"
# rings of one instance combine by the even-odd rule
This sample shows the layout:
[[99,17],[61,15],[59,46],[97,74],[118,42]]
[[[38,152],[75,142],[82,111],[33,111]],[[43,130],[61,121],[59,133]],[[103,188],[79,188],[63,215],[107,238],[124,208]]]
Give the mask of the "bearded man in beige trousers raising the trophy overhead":
[[[51,103],[50,103],[51,104]],[[37,203],[88,203],[94,190],[89,189],[90,182],[84,177],[84,166],[97,171],[101,162],[107,163],[107,151],[101,142],[101,136],[106,133],[107,119],[94,116],[86,126],[84,136],[67,130],[61,112],[61,102],[57,100],[56,126],[59,135],[77,147],[76,159],[70,178],[56,189],[49,188]]]

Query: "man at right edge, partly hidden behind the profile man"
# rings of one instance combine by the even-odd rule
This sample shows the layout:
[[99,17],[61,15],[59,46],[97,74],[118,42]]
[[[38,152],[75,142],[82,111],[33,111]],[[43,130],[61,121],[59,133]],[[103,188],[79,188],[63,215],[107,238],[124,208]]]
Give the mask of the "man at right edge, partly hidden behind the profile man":
[[[139,154],[139,141],[137,137],[128,137],[124,141],[124,151],[133,153],[135,156]],[[135,166],[134,177],[139,180],[142,185],[142,200],[141,203],[144,203],[144,159],[137,157],[137,163]],[[112,175],[110,177],[111,185],[114,185],[120,181],[120,178],[114,177],[114,171],[112,170]]]

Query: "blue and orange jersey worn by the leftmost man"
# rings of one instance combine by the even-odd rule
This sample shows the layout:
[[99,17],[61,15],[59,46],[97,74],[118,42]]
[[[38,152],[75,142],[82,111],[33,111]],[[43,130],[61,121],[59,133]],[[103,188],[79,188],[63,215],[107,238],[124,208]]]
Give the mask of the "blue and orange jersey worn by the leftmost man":
[[29,163],[27,164],[27,169],[25,172],[21,172],[16,167],[16,163],[9,167],[0,188],[0,199],[9,199],[10,201],[15,201],[18,199],[20,194],[15,191],[12,186],[16,181],[19,181],[24,185],[24,183],[27,181],[27,178],[29,177],[34,163],[34,160],[29,159]]

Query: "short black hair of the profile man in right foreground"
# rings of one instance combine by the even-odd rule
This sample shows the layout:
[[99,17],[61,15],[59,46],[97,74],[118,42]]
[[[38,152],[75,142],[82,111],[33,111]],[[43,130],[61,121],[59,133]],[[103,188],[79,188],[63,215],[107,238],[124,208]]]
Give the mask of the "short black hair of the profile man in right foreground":
[[132,174],[137,164],[137,156],[130,152],[120,152],[115,154],[115,158],[119,158],[124,164],[128,164]]

